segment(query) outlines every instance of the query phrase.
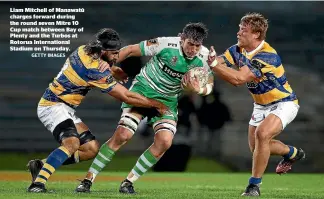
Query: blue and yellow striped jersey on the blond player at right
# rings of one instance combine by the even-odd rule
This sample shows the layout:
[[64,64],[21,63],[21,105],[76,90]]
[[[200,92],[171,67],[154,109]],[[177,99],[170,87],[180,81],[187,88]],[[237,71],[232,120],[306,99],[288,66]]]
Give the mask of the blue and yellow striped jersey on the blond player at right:
[[294,101],[296,94],[288,84],[284,67],[277,52],[267,43],[250,53],[233,45],[222,55],[227,66],[247,65],[257,80],[247,83],[247,87],[256,104],[269,105],[280,101]]

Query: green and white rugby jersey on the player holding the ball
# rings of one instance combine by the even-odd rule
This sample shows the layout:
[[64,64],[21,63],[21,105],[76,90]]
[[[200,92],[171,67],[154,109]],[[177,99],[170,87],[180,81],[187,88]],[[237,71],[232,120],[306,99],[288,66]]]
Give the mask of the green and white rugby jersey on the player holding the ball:
[[188,59],[183,55],[180,37],[159,37],[140,42],[143,56],[153,56],[136,76],[136,80],[168,97],[181,94],[181,79],[194,67],[206,67],[209,50],[202,46],[198,54]]

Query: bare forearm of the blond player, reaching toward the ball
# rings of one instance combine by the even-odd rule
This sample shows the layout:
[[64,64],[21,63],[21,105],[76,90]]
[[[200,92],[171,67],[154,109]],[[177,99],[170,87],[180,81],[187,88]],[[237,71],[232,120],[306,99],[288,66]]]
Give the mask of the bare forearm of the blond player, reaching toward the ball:
[[239,86],[245,83],[241,80],[237,70],[229,68],[225,64],[217,64],[217,66],[212,68],[212,71],[234,86]]

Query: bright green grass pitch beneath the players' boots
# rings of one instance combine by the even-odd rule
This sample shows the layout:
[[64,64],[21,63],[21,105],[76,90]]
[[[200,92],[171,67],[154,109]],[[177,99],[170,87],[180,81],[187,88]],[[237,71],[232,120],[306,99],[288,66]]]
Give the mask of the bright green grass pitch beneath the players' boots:
[[[47,183],[51,193],[27,193],[30,176],[27,172],[1,171],[1,199],[47,198],[239,198],[250,174],[236,173],[147,173],[135,184],[137,195],[118,193],[118,187],[127,172],[101,173],[90,194],[76,194],[77,179],[85,172],[58,171]],[[262,198],[324,198],[323,174],[267,174],[261,186]]]

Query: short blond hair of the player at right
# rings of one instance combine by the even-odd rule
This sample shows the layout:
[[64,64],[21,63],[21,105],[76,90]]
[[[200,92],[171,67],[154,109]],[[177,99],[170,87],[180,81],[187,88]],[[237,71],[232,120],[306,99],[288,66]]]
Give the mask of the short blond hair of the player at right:
[[253,33],[260,33],[259,40],[264,40],[266,38],[267,30],[268,30],[268,19],[266,19],[260,13],[247,13],[245,14],[240,24],[244,24],[250,26]]

